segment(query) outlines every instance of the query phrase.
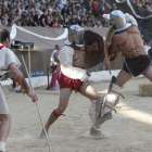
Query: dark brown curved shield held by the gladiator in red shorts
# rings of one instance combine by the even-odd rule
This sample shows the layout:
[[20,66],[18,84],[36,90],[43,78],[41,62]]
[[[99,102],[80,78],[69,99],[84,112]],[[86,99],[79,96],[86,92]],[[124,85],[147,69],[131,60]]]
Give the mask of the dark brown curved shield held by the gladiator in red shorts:
[[[103,38],[91,31],[91,30],[86,30],[84,34],[84,40],[85,40],[85,63],[86,63],[86,68],[92,67],[104,60],[104,40]],[[92,43],[97,43],[98,46],[98,51],[92,49],[91,51],[88,51],[87,46],[92,46]]]

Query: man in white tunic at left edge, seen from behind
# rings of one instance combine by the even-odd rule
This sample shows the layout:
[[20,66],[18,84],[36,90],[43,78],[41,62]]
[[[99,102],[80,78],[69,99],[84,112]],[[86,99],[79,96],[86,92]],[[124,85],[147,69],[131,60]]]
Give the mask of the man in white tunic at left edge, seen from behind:
[[[37,101],[37,94],[29,90],[29,87],[18,69],[21,63],[16,55],[9,49],[10,33],[7,29],[0,29],[0,81],[3,75],[9,71],[12,72],[14,79],[22,86],[26,94]],[[5,101],[4,92],[0,84],[0,152],[5,152],[5,141],[11,126],[11,116]]]

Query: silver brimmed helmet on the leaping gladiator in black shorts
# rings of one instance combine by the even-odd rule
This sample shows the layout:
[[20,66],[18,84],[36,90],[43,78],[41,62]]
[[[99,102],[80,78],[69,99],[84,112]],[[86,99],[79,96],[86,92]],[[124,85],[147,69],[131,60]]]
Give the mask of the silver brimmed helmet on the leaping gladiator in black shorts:
[[114,26],[116,33],[125,30],[131,26],[131,24],[126,22],[125,14],[118,10],[112,11],[110,23]]

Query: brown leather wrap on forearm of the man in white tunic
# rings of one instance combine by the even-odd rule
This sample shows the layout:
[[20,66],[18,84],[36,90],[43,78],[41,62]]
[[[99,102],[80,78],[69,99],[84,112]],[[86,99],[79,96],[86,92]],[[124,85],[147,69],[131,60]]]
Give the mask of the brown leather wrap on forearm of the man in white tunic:
[[21,85],[26,93],[29,92],[29,87],[23,76],[17,77],[16,81]]

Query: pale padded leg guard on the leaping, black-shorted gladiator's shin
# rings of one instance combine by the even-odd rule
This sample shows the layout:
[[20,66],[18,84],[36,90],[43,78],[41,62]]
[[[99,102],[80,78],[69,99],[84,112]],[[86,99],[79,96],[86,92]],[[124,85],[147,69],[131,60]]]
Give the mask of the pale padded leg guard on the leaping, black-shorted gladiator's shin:
[[118,102],[119,102],[119,96],[122,96],[121,94],[121,89],[122,88],[119,86],[117,86],[115,84],[115,81],[116,81],[116,77],[113,76],[112,77],[112,80],[111,80],[111,84],[110,84],[110,87],[109,87],[109,92],[107,92],[107,94],[105,97],[105,109],[104,109],[104,113],[110,112],[110,110],[114,110],[113,107],[116,106],[118,104]]

